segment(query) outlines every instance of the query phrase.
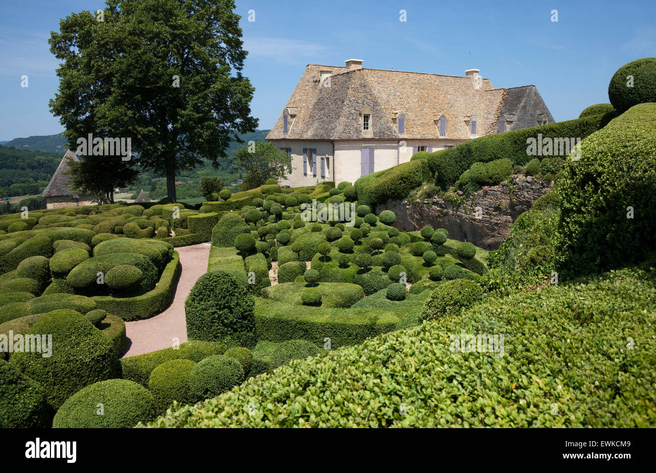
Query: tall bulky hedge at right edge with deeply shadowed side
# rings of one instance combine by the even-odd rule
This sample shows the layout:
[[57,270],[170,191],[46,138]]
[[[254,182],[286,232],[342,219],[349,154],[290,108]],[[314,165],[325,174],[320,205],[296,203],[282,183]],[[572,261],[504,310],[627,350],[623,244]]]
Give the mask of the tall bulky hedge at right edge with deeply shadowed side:
[[[642,261],[656,245],[656,104],[635,105],[581,142],[558,181],[565,278]],[[631,143],[627,146],[626,143]]]

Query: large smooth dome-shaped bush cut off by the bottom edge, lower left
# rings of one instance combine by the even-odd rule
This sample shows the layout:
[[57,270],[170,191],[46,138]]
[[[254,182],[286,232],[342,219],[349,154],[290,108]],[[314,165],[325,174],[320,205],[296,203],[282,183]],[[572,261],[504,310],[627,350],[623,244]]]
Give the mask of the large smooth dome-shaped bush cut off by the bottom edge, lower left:
[[[102,407],[98,407],[100,404]],[[98,415],[102,409],[102,415]],[[157,415],[155,398],[127,379],[109,379],[73,394],[52,420],[54,428],[130,428]]]

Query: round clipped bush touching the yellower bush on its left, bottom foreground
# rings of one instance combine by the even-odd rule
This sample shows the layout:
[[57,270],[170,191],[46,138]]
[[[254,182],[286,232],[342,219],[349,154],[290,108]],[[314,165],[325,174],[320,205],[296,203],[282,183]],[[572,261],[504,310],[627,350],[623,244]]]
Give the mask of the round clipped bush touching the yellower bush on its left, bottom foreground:
[[213,398],[240,385],[245,373],[234,358],[213,355],[199,361],[189,377],[192,393],[199,399]]

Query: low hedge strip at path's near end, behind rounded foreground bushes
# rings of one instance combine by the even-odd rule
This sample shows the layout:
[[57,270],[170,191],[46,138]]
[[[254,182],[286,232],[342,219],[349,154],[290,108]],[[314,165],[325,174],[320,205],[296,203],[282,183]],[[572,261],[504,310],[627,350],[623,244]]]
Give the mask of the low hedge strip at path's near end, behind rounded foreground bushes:
[[121,358],[121,373],[123,379],[129,379],[147,388],[150,374],[165,362],[170,360],[199,362],[208,356],[222,354],[226,349],[228,347],[223,342],[190,340],[175,347]]

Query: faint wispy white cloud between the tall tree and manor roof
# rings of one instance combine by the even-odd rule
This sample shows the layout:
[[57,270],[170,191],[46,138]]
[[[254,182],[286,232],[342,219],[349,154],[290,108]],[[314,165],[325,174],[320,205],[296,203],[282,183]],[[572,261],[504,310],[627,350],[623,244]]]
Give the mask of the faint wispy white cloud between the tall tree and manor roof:
[[244,37],[243,48],[249,56],[270,58],[283,64],[307,64],[325,56],[328,47],[297,39]]

